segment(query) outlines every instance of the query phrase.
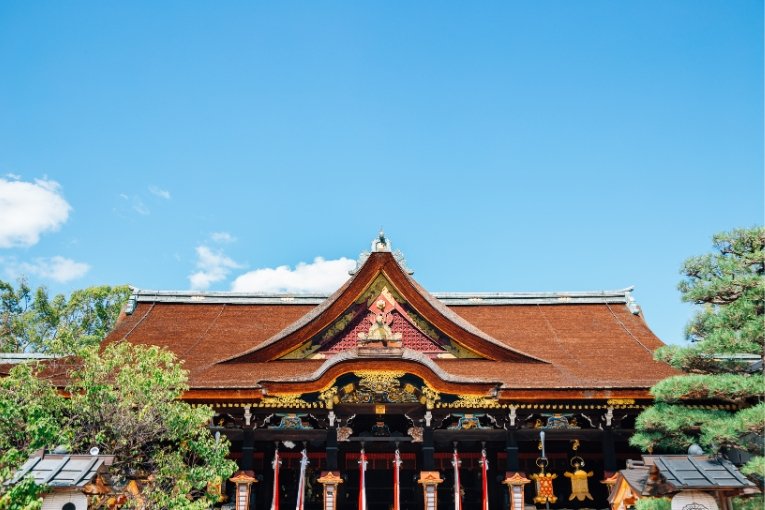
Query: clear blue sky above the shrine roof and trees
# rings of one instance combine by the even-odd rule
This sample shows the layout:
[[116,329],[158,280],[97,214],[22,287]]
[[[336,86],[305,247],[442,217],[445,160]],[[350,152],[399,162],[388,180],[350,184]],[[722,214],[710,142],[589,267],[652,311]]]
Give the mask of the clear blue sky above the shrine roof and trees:
[[682,261],[763,221],[759,1],[5,1],[0,77],[0,278],[52,292],[316,290],[383,226],[678,342]]

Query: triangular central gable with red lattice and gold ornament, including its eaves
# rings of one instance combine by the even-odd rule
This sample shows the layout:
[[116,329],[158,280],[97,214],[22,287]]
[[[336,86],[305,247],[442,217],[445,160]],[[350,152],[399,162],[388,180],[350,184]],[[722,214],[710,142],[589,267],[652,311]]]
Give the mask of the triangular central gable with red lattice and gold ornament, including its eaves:
[[449,310],[417,284],[380,239],[379,251],[365,255],[353,276],[324,303],[257,347],[224,361],[324,359],[349,349],[390,357],[405,348],[433,358],[546,363]]

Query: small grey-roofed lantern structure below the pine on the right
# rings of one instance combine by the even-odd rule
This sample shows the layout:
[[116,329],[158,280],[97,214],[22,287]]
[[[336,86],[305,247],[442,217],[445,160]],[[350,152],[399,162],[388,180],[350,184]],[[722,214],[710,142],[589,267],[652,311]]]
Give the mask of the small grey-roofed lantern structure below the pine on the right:
[[644,455],[618,472],[609,497],[626,510],[643,497],[671,497],[673,510],[727,510],[734,496],[759,492],[731,462],[707,455]]

